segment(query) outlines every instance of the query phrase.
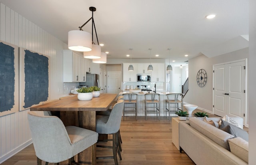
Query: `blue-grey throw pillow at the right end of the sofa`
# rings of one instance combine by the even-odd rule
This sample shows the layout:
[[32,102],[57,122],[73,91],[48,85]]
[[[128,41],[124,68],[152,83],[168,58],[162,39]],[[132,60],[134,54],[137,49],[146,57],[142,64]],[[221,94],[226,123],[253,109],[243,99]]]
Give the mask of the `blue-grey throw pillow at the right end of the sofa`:
[[234,137],[241,137],[242,139],[248,141],[249,140],[249,135],[246,131],[244,131],[243,129],[236,127],[235,125],[228,123],[226,121],[224,121],[223,119],[221,119],[222,122],[220,124],[220,129],[222,129],[223,131],[226,131],[227,133],[230,133],[231,135],[233,135]]

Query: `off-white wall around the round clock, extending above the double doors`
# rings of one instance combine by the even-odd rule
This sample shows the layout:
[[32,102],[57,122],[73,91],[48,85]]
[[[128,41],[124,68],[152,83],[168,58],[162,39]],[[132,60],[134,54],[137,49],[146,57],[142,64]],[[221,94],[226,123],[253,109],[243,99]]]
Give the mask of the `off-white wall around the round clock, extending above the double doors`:
[[[189,59],[188,93],[184,97],[184,102],[198,105],[198,107],[212,112],[212,65],[245,58],[249,58],[249,48],[237,50],[214,58],[208,58],[204,55],[200,55]],[[200,69],[206,70],[207,73],[207,83],[204,87],[199,87],[196,82],[196,75]]]

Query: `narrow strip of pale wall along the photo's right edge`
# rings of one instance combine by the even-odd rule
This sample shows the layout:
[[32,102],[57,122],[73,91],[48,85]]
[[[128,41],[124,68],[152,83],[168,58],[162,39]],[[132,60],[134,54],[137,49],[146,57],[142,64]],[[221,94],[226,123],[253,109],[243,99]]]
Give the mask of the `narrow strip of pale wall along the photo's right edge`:
[[249,93],[249,165],[254,165],[256,162],[256,101],[255,101],[255,93],[256,93],[256,1],[250,0],[250,8],[249,8],[249,65],[248,65],[248,93]]

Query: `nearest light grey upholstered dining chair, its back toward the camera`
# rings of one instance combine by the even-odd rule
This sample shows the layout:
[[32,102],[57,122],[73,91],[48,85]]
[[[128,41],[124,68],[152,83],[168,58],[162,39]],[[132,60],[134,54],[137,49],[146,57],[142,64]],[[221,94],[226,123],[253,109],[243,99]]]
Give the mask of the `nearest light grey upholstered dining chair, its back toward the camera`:
[[56,116],[40,116],[34,111],[28,112],[28,123],[36,151],[37,164],[42,160],[59,165],[69,159],[74,162],[74,155],[95,144],[98,133],[88,129],[67,126]]

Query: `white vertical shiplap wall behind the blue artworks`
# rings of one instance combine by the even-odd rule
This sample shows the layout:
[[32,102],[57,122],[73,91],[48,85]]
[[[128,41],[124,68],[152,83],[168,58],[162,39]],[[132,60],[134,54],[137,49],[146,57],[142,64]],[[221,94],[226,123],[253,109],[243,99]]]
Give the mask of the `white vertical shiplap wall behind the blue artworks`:
[[[4,4],[0,4],[0,40],[50,57],[49,99],[63,95],[62,50],[67,45]],[[32,143],[27,112],[0,117],[0,164]]]

